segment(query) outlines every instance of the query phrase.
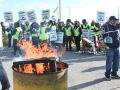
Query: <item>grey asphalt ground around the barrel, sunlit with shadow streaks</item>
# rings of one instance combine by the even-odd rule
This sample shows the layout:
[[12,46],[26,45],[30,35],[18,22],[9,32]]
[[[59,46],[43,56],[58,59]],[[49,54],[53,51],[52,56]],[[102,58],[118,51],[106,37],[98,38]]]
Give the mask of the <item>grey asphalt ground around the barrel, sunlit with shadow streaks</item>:
[[[11,84],[10,90],[13,90],[12,65],[15,58],[12,51],[12,49],[5,49],[0,55]],[[120,90],[120,80],[106,81],[104,78],[105,59],[105,55],[101,54],[90,55],[67,51],[62,56],[62,61],[69,64],[68,90]]]

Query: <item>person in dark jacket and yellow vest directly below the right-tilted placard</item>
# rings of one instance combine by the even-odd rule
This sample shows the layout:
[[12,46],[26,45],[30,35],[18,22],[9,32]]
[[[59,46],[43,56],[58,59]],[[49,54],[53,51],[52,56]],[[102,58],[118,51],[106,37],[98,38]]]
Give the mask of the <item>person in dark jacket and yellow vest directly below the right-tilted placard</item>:
[[32,29],[32,42],[33,42],[33,45],[35,45],[35,46],[38,46],[39,35],[40,35],[40,27],[39,27],[38,23],[34,23],[33,29]]

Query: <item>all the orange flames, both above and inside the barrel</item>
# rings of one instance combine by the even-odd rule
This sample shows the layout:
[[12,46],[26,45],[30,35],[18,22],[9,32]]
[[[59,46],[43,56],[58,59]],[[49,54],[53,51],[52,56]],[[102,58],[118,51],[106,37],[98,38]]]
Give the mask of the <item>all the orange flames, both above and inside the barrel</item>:
[[[60,45],[60,49],[54,49],[53,47],[48,47],[47,43],[39,43],[38,47],[32,45],[31,41],[22,40],[22,44],[17,43],[22,50],[26,52],[24,59],[40,59],[40,58],[51,58],[51,57],[61,57],[63,53],[65,53],[65,48]],[[59,61],[59,65],[61,68],[61,61]],[[16,71],[22,73],[37,73],[43,74],[50,72],[49,63],[35,63],[35,64],[22,64],[19,65],[19,69],[13,68]],[[63,68],[61,68],[63,70]]]

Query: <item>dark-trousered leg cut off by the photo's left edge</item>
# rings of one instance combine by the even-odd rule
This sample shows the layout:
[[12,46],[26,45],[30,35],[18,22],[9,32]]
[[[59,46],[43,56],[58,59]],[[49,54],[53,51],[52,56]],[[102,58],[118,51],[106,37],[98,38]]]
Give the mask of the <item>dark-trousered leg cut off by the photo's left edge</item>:
[[0,59],[0,81],[1,81],[2,89],[10,88],[10,83],[7,78],[7,74],[3,68],[1,59]]

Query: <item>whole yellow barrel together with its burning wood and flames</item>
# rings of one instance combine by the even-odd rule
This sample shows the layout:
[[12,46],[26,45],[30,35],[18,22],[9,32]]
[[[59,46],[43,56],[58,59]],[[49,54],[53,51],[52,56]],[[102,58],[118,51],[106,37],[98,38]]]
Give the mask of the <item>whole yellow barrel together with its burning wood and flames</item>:
[[46,43],[35,47],[31,42],[23,42],[21,48],[26,55],[13,62],[14,90],[67,90],[68,65],[60,60],[63,49],[58,53]]

